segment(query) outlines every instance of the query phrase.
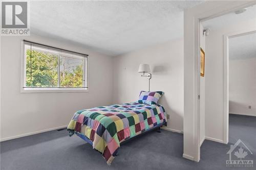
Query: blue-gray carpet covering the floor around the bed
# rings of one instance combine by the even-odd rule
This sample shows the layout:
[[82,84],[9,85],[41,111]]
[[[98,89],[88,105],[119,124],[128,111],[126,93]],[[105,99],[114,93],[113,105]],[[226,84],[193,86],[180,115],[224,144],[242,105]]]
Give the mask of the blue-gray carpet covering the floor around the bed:
[[[247,144],[254,154],[248,157],[254,160],[254,168],[244,169],[255,169],[256,117],[230,115],[229,120],[230,143],[241,138]],[[51,131],[1,142],[1,169],[240,169],[225,165],[229,144],[205,140],[197,163],[182,158],[182,134],[152,131],[124,143],[108,166],[101,154],[79,137],[69,137],[66,130]]]

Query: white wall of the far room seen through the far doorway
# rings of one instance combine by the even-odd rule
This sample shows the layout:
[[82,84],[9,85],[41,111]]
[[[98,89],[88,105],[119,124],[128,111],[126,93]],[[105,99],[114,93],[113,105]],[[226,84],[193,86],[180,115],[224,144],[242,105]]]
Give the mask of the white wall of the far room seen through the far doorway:
[[256,116],[255,73],[256,56],[229,59],[229,113]]

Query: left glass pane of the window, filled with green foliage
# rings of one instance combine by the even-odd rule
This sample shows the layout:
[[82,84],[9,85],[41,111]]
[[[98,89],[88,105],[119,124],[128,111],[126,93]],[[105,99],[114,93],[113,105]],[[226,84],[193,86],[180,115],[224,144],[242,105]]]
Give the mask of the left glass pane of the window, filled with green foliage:
[[57,87],[58,55],[26,50],[26,87]]

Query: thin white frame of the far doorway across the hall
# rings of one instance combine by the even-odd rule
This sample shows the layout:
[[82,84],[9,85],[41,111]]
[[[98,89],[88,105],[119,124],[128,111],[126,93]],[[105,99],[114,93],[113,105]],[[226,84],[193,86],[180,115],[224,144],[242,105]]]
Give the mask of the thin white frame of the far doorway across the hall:
[[223,142],[228,143],[228,125],[229,125],[229,48],[228,48],[228,42],[230,38],[234,37],[240,37],[243,35],[248,35],[256,33],[255,28],[246,28],[243,31],[240,32],[234,32],[234,33],[229,33],[229,34],[224,34],[223,35],[223,40],[224,40],[224,48],[223,48],[223,70],[224,70],[224,95],[223,95],[223,101],[224,101],[224,108],[223,108]]

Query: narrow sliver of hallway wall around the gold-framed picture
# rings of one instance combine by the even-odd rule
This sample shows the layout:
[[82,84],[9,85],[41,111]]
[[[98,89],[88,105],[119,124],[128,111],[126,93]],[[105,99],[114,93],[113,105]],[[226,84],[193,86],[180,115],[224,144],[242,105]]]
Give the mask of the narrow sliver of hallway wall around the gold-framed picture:
[[[205,56],[205,36],[203,36],[204,27],[200,23],[200,46]],[[206,70],[204,70],[205,75]],[[205,75],[206,76],[206,75]],[[200,144],[202,145],[205,138],[205,77],[200,77]]]

